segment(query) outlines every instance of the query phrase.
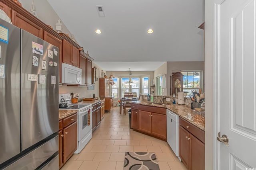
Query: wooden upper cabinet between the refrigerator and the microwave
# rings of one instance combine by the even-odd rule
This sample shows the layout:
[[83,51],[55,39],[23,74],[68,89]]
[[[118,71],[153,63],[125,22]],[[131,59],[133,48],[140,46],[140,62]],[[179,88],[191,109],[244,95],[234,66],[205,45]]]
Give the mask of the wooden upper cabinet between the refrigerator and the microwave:
[[61,82],[61,63],[62,63],[62,39],[58,39],[54,35],[44,31],[44,41],[59,48],[59,82]]

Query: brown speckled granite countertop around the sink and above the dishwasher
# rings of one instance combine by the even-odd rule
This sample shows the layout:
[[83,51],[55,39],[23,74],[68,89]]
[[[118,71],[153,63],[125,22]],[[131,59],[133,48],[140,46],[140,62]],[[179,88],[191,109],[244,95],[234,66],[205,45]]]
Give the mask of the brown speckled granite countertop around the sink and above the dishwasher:
[[132,103],[143,104],[143,105],[148,105],[148,106],[164,107],[166,109],[169,109],[173,113],[178,114],[180,117],[182,117],[186,121],[192,123],[193,125],[195,125],[196,127],[200,128],[204,131],[204,125],[202,125],[201,123],[197,123],[197,122],[187,118],[188,113],[190,113],[192,115],[192,117],[194,117],[195,115],[198,115],[197,111],[192,110],[187,105],[179,105],[179,104],[172,104],[172,103],[170,103],[168,105],[158,105],[158,104],[150,104],[150,103],[143,102],[143,101],[142,102],[141,101],[134,101]]

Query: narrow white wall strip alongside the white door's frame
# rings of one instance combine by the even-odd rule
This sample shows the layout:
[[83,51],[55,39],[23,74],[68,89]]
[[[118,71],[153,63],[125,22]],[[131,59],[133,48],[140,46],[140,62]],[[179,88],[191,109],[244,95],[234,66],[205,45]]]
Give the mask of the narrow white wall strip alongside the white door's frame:
[[205,169],[213,170],[213,2],[205,1]]

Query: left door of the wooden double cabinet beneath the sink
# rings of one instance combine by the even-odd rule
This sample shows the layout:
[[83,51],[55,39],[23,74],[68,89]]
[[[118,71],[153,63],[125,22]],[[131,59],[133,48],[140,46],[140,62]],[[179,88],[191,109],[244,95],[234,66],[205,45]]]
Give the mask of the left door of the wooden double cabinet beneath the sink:
[[146,133],[151,133],[151,112],[139,110],[138,130]]

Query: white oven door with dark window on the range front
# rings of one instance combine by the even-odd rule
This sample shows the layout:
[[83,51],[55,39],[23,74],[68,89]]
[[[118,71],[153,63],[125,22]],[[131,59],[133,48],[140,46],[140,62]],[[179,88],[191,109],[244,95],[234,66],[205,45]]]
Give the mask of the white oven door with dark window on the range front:
[[90,117],[89,121],[90,121],[90,125],[88,125],[88,114],[89,109],[84,109],[82,111],[79,111],[79,118],[78,118],[78,141],[81,141],[81,139],[92,129],[92,125],[91,125],[91,119],[92,117]]

